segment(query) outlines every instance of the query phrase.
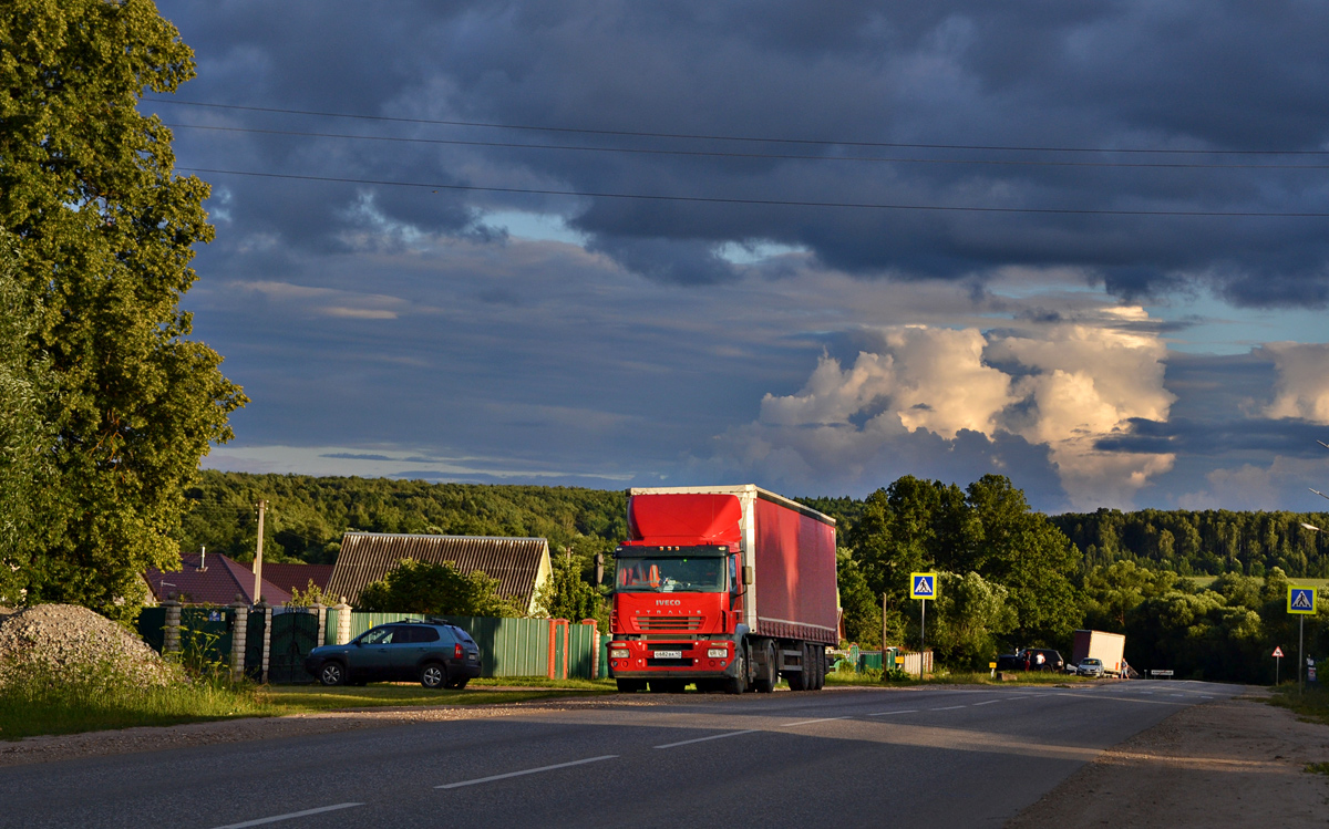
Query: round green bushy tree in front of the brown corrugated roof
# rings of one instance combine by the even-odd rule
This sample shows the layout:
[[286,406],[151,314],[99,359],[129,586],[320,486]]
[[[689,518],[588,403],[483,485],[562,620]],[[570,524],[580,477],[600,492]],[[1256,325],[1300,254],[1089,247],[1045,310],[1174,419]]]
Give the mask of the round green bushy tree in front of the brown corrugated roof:
[[383,581],[360,591],[358,610],[436,616],[522,615],[512,602],[498,598],[497,587],[497,579],[478,570],[468,574],[448,562],[404,558]]

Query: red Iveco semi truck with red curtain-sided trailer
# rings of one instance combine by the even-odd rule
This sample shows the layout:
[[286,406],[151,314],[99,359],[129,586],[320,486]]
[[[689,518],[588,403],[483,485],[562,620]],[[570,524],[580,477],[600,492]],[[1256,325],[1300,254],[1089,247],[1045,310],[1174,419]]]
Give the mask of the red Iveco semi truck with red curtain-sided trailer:
[[835,519],[744,486],[630,489],[610,675],[619,691],[769,692],[825,682]]

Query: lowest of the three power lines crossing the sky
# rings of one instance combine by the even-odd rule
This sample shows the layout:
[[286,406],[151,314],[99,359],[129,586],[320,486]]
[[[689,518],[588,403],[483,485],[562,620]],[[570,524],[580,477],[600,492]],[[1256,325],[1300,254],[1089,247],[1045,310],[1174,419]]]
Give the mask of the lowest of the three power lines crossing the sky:
[[813,202],[793,199],[726,198],[706,195],[658,195],[645,193],[597,193],[577,190],[553,190],[536,187],[484,187],[480,185],[447,185],[428,182],[400,182],[372,178],[343,178],[334,175],[296,175],[292,173],[255,173],[249,170],[219,170],[213,167],[177,167],[185,173],[205,173],[211,175],[245,175],[251,178],[280,178],[288,181],[311,181],[343,185],[377,185],[385,187],[419,187],[429,190],[459,190],[469,193],[509,193],[521,195],[567,195],[581,198],[635,199],[649,202],[690,202],[707,205],[755,205],[773,207],[839,207],[859,210],[918,210],[934,213],[1013,213],[1013,214],[1057,214],[1057,215],[1132,215],[1132,217],[1215,217],[1215,218],[1275,218],[1275,219],[1322,219],[1329,213],[1288,211],[1261,213],[1253,210],[1106,210],[1074,207],[978,207],[965,205],[902,205],[874,202]]

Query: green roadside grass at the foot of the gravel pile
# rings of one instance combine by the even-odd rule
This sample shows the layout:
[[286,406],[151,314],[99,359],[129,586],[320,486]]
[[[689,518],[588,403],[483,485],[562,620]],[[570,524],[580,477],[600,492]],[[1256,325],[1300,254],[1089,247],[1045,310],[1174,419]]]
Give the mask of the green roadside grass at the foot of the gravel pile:
[[152,687],[105,666],[64,672],[28,666],[0,686],[0,740],[274,713],[251,687],[209,682]]

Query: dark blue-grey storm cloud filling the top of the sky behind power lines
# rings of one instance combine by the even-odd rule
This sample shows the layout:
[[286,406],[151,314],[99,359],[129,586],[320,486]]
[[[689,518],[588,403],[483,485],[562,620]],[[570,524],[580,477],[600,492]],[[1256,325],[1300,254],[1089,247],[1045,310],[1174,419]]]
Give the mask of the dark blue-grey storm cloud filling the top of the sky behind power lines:
[[[239,105],[710,136],[1310,150],[1329,129],[1329,7],[949,3],[171,3],[199,56],[179,97]],[[1073,210],[1325,213],[1325,170],[968,165],[1314,157],[944,151],[355,122],[154,105],[167,121],[881,163],[392,145],[178,132],[183,166],[723,198]],[[207,175],[235,234],[338,250],[368,225],[461,232],[560,211],[653,279],[731,276],[711,246],[771,240],[867,276],[1080,266],[1120,295],[1201,282],[1240,304],[1324,304],[1329,219],[985,214],[560,199]]]

